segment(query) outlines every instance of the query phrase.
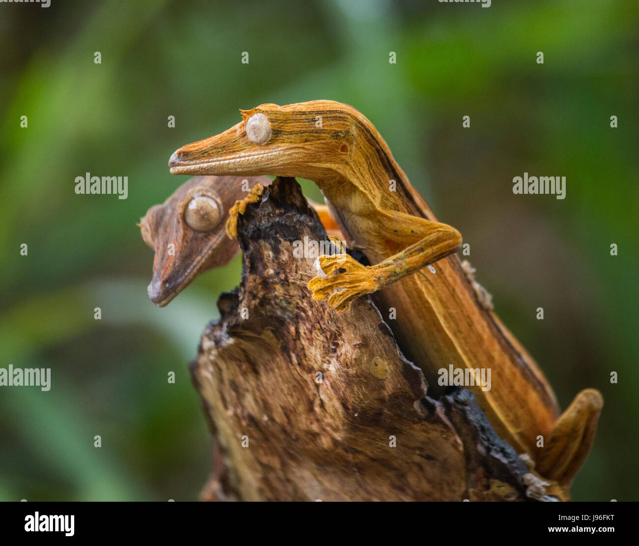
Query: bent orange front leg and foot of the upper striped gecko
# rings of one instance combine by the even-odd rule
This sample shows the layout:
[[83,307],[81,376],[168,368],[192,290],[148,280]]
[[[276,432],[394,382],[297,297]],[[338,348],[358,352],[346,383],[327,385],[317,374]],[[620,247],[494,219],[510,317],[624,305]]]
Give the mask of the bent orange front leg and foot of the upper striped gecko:
[[[342,313],[362,295],[376,292],[402,277],[454,253],[461,246],[459,231],[447,224],[433,222],[395,211],[377,210],[366,222],[380,238],[406,248],[376,265],[364,266],[348,254],[319,256],[319,267],[330,277],[314,277],[308,284],[316,300],[328,297],[328,305]],[[339,271],[343,270],[343,271]],[[332,292],[337,290],[331,295]]]

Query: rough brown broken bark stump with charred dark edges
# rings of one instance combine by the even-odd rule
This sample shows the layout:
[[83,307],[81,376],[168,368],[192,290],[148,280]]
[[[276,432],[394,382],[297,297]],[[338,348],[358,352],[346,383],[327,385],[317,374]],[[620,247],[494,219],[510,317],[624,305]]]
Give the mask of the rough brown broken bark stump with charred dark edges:
[[312,299],[327,240],[294,179],[276,180],[238,222],[242,284],[220,297],[192,363],[214,437],[203,499],[526,499],[528,468],[473,395],[426,395],[369,298],[335,313]]

